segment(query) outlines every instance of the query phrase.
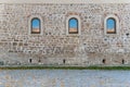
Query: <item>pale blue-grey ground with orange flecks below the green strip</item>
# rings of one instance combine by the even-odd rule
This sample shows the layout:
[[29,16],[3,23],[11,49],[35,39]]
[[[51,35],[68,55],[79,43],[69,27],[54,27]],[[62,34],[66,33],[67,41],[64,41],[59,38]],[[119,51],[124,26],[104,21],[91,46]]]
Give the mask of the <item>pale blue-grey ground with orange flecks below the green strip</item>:
[[0,87],[130,87],[130,71],[0,70]]

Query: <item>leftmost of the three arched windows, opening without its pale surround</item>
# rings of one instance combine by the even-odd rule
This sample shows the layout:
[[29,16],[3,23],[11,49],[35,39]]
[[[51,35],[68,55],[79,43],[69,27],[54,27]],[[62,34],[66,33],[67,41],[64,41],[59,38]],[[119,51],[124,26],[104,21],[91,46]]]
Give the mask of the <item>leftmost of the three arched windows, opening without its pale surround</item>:
[[31,34],[40,34],[41,24],[38,17],[31,20]]

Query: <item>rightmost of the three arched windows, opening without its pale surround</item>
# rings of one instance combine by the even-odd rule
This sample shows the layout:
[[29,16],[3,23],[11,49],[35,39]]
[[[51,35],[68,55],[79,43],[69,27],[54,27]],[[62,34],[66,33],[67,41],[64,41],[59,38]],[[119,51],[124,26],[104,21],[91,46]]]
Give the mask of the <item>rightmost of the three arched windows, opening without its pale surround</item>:
[[116,34],[116,20],[114,17],[106,20],[106,29],[107,34]]

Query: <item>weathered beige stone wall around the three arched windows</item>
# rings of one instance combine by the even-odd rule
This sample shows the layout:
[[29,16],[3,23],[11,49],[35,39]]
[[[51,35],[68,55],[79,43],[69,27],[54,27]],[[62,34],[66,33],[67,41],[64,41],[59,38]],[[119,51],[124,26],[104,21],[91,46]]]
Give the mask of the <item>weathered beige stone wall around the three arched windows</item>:
[[[66,34],[66,18],[80,18],[80,34]],[[104,33],[104,18],[119,20],[118,34]],[[0,4],[1,64],[130,64],[129,3]],[[40,16],[42,34],[30,34],[29,18]]]

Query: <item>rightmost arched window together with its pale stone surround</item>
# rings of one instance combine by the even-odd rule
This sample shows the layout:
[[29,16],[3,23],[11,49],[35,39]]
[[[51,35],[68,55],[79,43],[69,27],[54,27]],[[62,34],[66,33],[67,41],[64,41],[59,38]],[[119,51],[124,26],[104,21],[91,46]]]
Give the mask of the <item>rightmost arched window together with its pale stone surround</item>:
[[119,20],[116,15],[108,15],[104,20],[104,32],[105,34],[118,34],[119,32]]

